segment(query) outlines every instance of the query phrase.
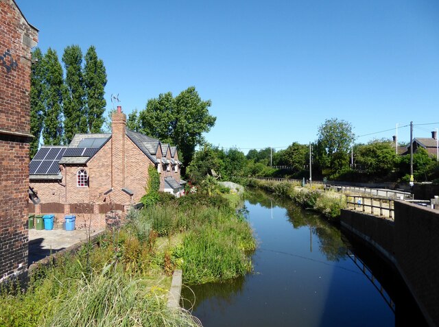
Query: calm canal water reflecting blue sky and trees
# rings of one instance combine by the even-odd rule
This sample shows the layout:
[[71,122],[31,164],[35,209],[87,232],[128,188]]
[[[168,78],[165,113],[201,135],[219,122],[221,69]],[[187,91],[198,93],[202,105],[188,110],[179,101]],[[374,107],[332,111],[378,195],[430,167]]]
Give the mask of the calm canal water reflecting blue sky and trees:
[[[250,193],[244,208],[259,242],[254,271],[182,291],[183,306],[203,326],[395,326],[394,299],[363,264],[378,258],[316,213],[262,191]],[[388,287],[401,289],[393,282]]]

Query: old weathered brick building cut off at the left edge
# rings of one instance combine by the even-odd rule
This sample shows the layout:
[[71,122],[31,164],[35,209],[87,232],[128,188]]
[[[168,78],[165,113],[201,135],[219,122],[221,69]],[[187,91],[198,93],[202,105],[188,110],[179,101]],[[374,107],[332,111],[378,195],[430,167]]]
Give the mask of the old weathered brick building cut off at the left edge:
[[0,0],[0,282],[27,269],[30,66],[38,29]]

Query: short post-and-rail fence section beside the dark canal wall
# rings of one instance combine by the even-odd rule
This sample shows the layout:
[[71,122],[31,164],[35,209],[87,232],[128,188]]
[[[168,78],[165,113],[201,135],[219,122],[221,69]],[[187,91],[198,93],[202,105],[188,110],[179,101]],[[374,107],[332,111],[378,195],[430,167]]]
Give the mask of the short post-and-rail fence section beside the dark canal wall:
[[347,195],[346,207],[352,210],[361,210],[363,213],[385,217],[394,220],[394,200],[382,197],[365,197],[363,195]]

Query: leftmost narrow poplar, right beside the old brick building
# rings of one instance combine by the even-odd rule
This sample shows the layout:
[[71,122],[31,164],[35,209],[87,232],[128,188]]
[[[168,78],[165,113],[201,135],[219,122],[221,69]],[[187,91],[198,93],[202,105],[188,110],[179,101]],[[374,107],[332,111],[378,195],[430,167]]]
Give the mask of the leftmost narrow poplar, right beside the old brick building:
[[45,70],[43,53],[39,48],[32,52],[31,80],[30,80],[30,132],[34,136],[30,143],[29,155],[33,158],[40,144],[41,130],[45,114]]

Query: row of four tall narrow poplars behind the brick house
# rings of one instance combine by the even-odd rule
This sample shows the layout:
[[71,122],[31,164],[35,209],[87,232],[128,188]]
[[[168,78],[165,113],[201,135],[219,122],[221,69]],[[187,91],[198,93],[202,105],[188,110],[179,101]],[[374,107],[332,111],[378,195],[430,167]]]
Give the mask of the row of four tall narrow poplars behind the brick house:
[[62,54],[54,49],[32,52],[30,125],[34,136],[31,158],[40,137],[46,145],[67,145],[76,133],[99,133],[104,124],[106,69],[92,45],[85,56],[79,45]]

